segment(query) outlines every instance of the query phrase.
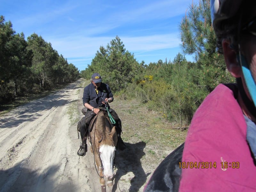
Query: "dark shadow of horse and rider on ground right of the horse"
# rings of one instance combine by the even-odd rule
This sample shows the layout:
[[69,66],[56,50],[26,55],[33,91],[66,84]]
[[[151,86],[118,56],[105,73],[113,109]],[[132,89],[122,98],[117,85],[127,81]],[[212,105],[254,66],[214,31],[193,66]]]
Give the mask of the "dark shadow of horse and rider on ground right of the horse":
[[124,151],[116,151],[115,165],[117,172],[112,192],[119,188],[118,184],[122,180],[121,177],[129,172],[134,174],[134,177],[130,180],[131,187],[128,190],[132,192],[139,191],[141,186],[146,182],[147,176],[150,174],[144,172],[140,162],[140,159],[145,155],[143,149],[146,147],[146,143],[140,141],[134,144],[125,143],[125,145],[126,149]]

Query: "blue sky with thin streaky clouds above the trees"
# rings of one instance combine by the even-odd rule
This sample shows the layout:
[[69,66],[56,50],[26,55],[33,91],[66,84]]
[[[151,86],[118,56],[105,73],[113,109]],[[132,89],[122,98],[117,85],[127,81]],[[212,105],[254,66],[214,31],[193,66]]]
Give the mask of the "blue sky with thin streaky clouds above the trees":
[[[196,0],[193,1],[197,2]],[[145,64],[173,61],[180,52],[179,24],[192,0],[0,0],[0,15],[25,39],[36,33],[78,70],[100,46],[118,36],[126,51]]]

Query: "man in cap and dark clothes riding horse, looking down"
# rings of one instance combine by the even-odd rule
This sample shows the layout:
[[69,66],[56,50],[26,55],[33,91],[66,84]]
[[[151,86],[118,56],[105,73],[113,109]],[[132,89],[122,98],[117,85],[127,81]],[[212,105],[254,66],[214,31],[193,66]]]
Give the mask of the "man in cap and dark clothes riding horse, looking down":
[[[100,74],[94,73],[92,75],[91,84],[87,85],[84,88],[84,94],[82,99],[83,99],[85,110],[87,109],[87,111],[84,113],[84,109],[82,110],[85,117],[83,117],[82,120],[80,121],[80,128],[81,128],[80,134],[81,134],[82,143],[77,152],[77,155],[79,156],[84,156],[85,153],[87,152],[86,139],[88,134],[88,127],[90,125],[92,117],[99,113],[100,108],[102,109],[110,108],[108,103],[114,100],[114,97],[109,85],[102,83],[101,80],[102,78]],[[114,110],[112,109],[112,111]],[[115,124],[116,132],[117,132],[117,148],[119,148],[120,150],[124,150],[126,147],[124,145],[123,140],[121,139],[121,132],[122,132],[121,120],[119,119],[118,116],[116,118],[118,118]]]

